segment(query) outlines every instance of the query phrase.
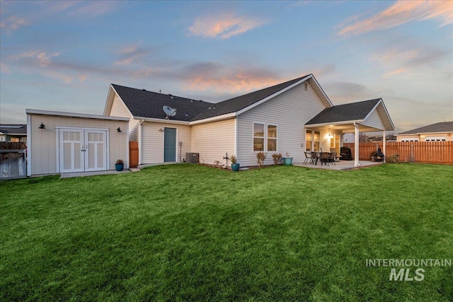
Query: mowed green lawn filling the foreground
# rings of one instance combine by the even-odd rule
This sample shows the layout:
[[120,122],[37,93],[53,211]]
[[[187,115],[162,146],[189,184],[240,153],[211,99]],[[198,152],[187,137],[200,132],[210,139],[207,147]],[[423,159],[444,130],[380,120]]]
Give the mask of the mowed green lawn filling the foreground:
[[452,179],[181,164],[0,182],[0,301],[453,301],[453,267],[366,266],[453,258]]

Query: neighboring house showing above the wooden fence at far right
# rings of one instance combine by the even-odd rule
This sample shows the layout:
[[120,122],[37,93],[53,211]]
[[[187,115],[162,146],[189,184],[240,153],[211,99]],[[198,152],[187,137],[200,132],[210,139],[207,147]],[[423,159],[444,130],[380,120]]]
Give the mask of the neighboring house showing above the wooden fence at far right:
[[453,122],[437,122],[396,134],[396,141],[453,141]]

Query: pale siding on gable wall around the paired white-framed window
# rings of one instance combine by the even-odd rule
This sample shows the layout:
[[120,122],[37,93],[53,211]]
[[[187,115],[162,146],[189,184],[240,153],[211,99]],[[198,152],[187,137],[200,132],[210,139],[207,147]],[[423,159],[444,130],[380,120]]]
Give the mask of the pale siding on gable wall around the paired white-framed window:
[[[257,165],[257,152],[253,152],[253,122],[277,125],[277,153],[285,155],[286,152],[289,152],[294,162],[303,161],[304,124],[324,108],[326,108],[325,105],[311,84],[305,90],[304,83],[302,83],[239,115],[238,163],[242,166]],[[321,146],[330,144],[326,138],[322,140]],[[275,152],[268,152],[265,164],[273,163],[272,153]]]

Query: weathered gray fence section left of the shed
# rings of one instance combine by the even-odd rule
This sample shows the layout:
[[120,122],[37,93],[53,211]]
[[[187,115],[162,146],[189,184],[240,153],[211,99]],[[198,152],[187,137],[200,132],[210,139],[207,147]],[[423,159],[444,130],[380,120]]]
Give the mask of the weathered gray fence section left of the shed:
[[22,142],[0,144],[0,180],[27,177],[27,150]]

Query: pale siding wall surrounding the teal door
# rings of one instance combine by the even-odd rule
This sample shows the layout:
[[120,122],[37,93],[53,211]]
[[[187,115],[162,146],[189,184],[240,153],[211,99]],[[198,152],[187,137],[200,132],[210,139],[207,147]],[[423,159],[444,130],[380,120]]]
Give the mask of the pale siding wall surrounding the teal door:
[[[183,161],[185,153],[190,152],[190,126],[144,122],[142,124],[142,162],[141,165],[164,163],[164,132],[163,127],[176,128],[176,161]],[[181,141],[183,145],[178,146]],[[140,148],[140,146],[139,146]]]

